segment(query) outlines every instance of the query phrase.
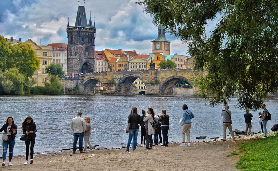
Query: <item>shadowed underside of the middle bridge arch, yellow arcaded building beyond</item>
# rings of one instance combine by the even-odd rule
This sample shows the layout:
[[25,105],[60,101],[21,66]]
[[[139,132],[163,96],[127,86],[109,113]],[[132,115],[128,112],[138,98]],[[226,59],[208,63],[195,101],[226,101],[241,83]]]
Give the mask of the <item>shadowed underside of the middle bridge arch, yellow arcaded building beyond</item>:
[[119,79],[119,81],[117,82],[117,85],[115,88],[115,93],[117,93],[117,94],[133,94],[135,87],[132,84],[137,78],[142,80],[145,83],[145,86],[147,87],[145,80],[143,80],[140,76],[137,76],[135,74],[126,74],[125,76],[121,77]]

